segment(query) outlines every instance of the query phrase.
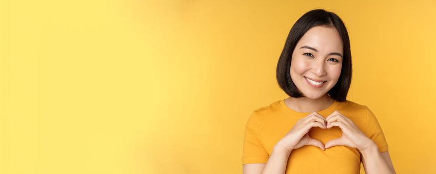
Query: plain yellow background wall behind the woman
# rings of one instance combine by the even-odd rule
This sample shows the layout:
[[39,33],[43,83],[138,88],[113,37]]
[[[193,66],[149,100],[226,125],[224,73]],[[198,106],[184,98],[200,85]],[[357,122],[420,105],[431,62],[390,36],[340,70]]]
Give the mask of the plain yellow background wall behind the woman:
[[[399,174],[436,173],[434,0],[1,0],[1,174],[238,174],[305,12],[345,22],[348,100]],[[362,168],[363,171],[363,168]],[[362,172],[363,173],[363,172]]]

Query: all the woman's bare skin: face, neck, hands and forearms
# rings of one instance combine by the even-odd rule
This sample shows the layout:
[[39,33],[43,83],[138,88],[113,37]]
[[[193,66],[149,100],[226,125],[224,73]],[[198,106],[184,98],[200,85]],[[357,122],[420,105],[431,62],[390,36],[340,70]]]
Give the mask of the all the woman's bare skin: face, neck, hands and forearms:
[[[342,69],[342,44],[342,39],[336,28],[315,26],[303,35],[292,53],[291,79],[304,97],[286,98],[284,100],[285,104],[295,111],[311,113],[304,120],[301,120],[300,124],[302,126],[303,124],[304,126],[310,126],[309,123],[316,120],[321,123],[318,123],[318,127],[328,129],[338,126],[343,132],[342,137],[330,140],[325,145],[306,135],[293,148],[296,149],[296,147],[304,145],[318,146],[322,150],[341,145],[357,148],[362,152],[363,166],[366,173],[395,174],[389,152],[380,153],[377,145],[362,133],[352,120],[337,110],[326,118],[316,113],[316,111],[323,110],[334,102],[334,99],[327,95],[327,92],[339,80]],[[317,51],[301,48],[303,46],[309,46]],[[306,82],[305,77],[326,82],[322,87],[314,88]],[[286,141],[289,142],[295,135],[291,130],[287,134],[288,138],[283,138],[277,143],[267,165],[263,163],[243,165],[243,174],[284,174],[286,161],[292,151],[292,148],[286,148],[286,145],[289,145]]]

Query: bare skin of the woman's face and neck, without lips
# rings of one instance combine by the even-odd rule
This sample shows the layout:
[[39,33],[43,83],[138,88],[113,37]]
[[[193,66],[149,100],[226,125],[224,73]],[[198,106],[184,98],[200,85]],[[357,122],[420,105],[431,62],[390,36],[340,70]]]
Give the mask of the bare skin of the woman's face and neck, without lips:
[[[318,52],[301,48],[309,46]],[[342,69],[342,39],[336,28],[315,26],[310,28],[298,41],[292,53],[290,74],[292,82],[305,97],[285,99],[286,105],[298,112],[316,112],[330,106],[334,99],[327,92],[336,85]],[[307,84],[306,79],[327,81],[321,88]]]

